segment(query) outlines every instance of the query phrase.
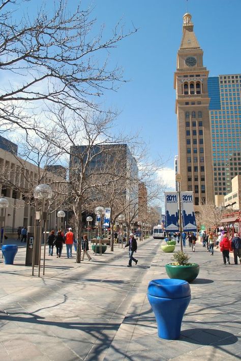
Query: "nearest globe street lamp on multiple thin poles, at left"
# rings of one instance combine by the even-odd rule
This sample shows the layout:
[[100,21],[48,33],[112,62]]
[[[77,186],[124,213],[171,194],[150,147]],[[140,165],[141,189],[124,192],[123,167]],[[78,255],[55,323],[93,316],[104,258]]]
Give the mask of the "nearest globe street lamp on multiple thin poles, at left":
[[[43,228],[43,221],[46,222],[47,220],[47,215],[46,212],[44,212],[45,208],[45,199],[50,199],[53,195],[53,191],[52,188],[49,187],[46,184],[40,184],[38,185],[35,190],[34,190],[34,197],[36,200],[41,199],[42,200],[42,209],[40,212],[40,215],[37,216],[37,210],[36,210],[36,219],[40,220],[40,227]],[[37,203],[37,202],[36,202]],[[40,216],[40,217],[39,217]],[[41,240],[42,240],[42,230],[40,228],[40,233],[39,233],[39,273],[38,276],[40,277],[40,267],[41,267]],[[44,236],[44,266],[45,266],[45,242],[46,242],[46,234]],[[35,234],[34,234],[34,248],[33,248],[33,270],[32,270],[32,274],[34,275],[34,266],[35,266],[35,249],[36,249],[36,227],[35,227]],[[44,274],[44,269],[43,269],[43,274]]]

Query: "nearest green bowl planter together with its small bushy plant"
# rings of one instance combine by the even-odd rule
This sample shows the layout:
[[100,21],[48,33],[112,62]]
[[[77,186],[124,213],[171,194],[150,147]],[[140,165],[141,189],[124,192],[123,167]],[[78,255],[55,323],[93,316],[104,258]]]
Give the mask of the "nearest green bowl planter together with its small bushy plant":
[[192,282],[199,273],[199,265],[197,263],[189,262],[190,256],[183,251],[177,251],[173,254],[171,261],[168,263],[166,273],[170,278],[184,279]]

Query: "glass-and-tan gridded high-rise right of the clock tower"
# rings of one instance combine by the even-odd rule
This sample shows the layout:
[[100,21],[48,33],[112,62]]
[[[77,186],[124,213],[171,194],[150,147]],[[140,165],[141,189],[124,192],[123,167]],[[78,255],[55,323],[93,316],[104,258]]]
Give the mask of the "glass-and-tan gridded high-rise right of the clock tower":
[[232,178],[241,174],[241,74],[210,77],[207,84],[217,197],[230,193]]

